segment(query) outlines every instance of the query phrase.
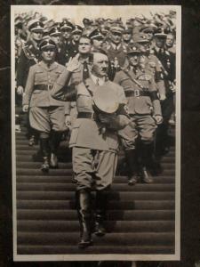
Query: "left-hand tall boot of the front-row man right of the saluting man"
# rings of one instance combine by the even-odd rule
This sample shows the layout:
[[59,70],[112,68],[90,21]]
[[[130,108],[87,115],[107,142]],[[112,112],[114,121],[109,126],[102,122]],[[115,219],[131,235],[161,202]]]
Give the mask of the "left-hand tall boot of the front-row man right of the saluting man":
[[138,175],[138,161],[137,161],[137,152],[136,150],[125,150],[125,160],[128,165],[129,175],[128,179],[129,185],[134,185],[139,180]]

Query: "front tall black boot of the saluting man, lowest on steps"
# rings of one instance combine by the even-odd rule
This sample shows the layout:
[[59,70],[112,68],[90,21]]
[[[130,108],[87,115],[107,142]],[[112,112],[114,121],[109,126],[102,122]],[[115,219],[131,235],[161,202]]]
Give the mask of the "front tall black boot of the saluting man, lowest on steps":
[[84,248],[92,245],[91,236],[91,191],[76,190],[76,209],[78,214],[78,220],[80,223],[80,242],[78,247]]

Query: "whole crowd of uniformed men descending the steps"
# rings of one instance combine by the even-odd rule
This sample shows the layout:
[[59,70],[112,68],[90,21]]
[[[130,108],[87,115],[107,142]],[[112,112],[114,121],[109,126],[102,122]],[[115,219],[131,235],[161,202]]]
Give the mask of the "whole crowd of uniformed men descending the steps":
[[[61,136],[72,148],[79,247],[105,234],[107,196],[124,150],[128,183],[154,182],[174,124],[175,13],[121,19],[15,18],[16,99],[28,114],[28,144],[41,170],[58,167]],[[19,103],[21,100],[21,103]],[[96,190],[92,227],[91,190]]]

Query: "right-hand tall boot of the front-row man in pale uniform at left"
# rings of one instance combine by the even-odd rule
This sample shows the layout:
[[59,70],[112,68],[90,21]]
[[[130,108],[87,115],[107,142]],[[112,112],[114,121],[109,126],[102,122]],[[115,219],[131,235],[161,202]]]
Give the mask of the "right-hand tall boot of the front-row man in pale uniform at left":
[[50,166],[51,168],[58,168],[58,158],[57,158],[57,150],[60,144],[62,133],[52,131],[51,133],[51,156],[50,156]]

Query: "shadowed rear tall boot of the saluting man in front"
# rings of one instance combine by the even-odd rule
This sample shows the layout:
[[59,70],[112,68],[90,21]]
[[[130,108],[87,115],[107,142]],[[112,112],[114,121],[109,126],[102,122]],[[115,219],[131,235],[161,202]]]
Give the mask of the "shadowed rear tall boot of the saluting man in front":
[[108,206],[108,189],[96,191],[96,213],[95,213],[95,225],[94,233],[98,237],[102,237],[106,234],[104,221],[106,218],[106,211]]

